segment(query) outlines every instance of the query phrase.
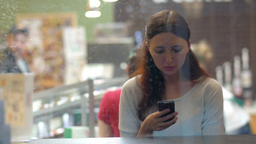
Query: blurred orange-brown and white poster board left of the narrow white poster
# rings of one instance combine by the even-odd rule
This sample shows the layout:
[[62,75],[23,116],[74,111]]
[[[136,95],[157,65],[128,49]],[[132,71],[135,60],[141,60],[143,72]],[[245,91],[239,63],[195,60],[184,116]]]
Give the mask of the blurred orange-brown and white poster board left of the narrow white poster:
[[26,60],[35,74],[35,91],[61,86],[65,81],[64,27],[76,27],[75,13],[18,14],[16,24],[29,30]]

